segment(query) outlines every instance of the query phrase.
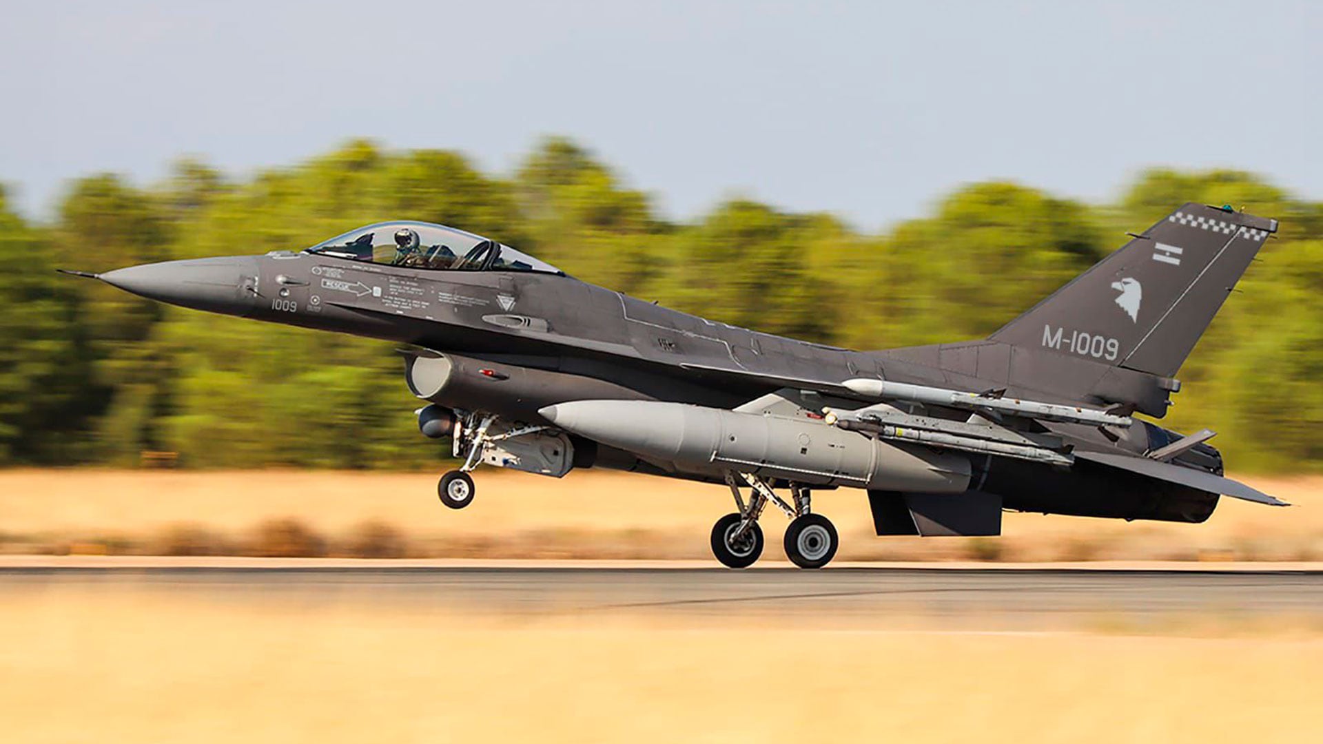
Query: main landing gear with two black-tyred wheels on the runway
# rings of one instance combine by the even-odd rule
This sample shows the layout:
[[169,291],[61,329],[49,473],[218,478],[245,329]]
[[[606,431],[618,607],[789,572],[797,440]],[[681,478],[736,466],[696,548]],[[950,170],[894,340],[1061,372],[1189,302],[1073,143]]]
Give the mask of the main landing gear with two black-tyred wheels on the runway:
[[[740,494],[744,481],[750,487],[749,502]],[[763,537],[758,518],[767,502],[791,518],[786,527],[786,556],[799,568],[822,568],[836,556],[840,539],[836,527],[820,514],[810,511],[810,492],[803,486],[791,485],[794,506],[786,503],[765,478],[747,473],[726,473],[726,485],[740,510],[728,514],[712,527],[712,555],[730,568],[747,568],[762,555]]]

